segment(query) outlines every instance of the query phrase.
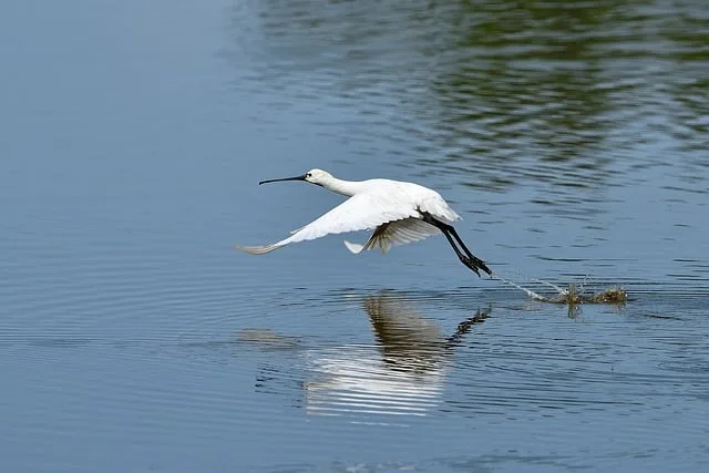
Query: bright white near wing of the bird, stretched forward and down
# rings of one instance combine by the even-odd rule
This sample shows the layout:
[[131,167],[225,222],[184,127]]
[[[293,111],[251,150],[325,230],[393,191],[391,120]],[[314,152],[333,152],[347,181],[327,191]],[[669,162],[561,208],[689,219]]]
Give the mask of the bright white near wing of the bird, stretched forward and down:
[[413,205],[397,200],[395,194],[393,196],[386,193],[358,194],[296,230],[286,239],[273,245],[237,246],[236,248],[251,255],[263,255],[291,243],[320,238],[330,234],[377,228],[388,222],[419,215],[419,210]]

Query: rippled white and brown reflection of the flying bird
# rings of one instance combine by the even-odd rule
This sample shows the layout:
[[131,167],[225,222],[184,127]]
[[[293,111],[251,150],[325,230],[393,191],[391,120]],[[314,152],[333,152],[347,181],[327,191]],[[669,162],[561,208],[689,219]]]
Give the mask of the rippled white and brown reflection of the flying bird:
[[489,311],[477,311],[445,336],[401,296],[367,297],[377,345],[312,353],[306,383],[309,414],[425,415],[438,405],[454,347]]

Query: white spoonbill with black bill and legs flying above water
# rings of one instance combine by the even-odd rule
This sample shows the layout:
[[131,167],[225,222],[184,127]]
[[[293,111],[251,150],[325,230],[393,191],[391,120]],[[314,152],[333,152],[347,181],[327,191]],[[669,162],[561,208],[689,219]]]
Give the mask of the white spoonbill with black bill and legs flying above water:
[[451,225],[461,217],[435,191],[401,181],[343,181],[322,169],[310,169],[296,177],[261,181],[258,185],[279,181],[305,181],[349,198],[308,225],[291,232],[288,238],[273,245],[237,245],[236,248],[251,255],[263,255],[291,243],[320,238],[329,234],[373,229],[374,233],[364,245],[347,240],[345,245],[353,254],[377,246],[386,254],[392,246],[443,233],[461,263],[477,276],[479,269],[492,276],[485,261],[467,249]]

